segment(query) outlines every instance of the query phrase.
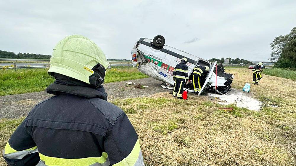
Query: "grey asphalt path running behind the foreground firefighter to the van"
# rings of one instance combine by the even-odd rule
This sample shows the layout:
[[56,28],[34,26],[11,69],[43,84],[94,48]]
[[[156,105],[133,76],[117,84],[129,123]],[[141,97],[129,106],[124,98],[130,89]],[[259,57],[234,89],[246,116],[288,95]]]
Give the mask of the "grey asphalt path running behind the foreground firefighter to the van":
[[[126,82],[133,81],[132,85],[126,87]],[[108,93],[108,100],[116,98],[131,98],[149,96],[158,92],[170,92],[160,86],[162,82],[153,78],[143,78],[138,80],[128,80],[115,83],[106,83],[104,87]],[[135,88],[135,85],[148,86],[144,89]],[[125,88],[126,91],[122,91]],[[42,92],[24,93],[17,95],[0,96],[0,119],[1,118],[17,118],[26,116],[28,112],[40,101],[53,96]]]

